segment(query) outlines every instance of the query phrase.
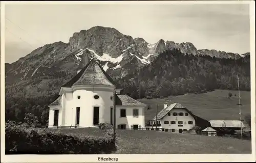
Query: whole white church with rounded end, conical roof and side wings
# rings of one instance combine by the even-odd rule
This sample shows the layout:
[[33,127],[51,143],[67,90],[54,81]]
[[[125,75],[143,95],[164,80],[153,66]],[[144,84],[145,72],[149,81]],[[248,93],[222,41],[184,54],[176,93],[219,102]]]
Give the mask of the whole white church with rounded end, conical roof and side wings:
[[77,75],[60,88],[59,97],[49,105],[49,127],[114,124],[114,101],[116,127],[144,127],[146,105],[121,94],[118,84],[94,59],[86,56],[81,62],[86,66],[79,65]]

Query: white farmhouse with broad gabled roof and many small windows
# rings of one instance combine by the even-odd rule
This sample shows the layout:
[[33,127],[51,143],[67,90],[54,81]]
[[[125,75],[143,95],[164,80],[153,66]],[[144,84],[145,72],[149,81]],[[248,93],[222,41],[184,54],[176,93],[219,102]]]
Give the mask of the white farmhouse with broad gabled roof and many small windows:
[[[157,120],[157,122],[156,122]],[[164,108],[150,121],[152,126],[158,128],[171,129],[173,132],[179,130],[191,130],[194,126],[207,127],[208,121],[204,120],[180,103],[164,104]]]

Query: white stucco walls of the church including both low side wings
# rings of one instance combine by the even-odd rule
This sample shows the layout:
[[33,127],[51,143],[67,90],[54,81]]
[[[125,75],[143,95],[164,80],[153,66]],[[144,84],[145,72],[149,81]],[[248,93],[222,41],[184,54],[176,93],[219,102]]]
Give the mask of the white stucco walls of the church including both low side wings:
[[[98,95],[98,99],[94,99]],[[80,99],[77,97],[80,96]],[[79,127],[97,127],[93,124],[94,106],[99,107],[99,123],[111,123],[111,107],[114,106],[114,88],[110,86],[91,86],[77,88],[65,88],[61,92],[61,107],[50,107],[49,125],[53,125],[54,109],[59,110],[59,126],[75,126],[76,107],[80,107]],[[120,108],[126,110],[126,117],[120,117]],[[139,116],[133,116],[133,109],[139,110]],[[114,110],[112,112],[112,124],[114,124]],[[144,106],[116,106],[116,127],[118,124],[126,124],[145,127]]]

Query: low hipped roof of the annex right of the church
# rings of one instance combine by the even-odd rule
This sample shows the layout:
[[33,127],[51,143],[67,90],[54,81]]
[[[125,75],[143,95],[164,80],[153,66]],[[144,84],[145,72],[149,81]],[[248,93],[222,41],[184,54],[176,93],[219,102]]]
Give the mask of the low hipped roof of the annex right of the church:
[[143,106],[146,104],[141,103],[140,101],[137,101],[128,95],[116,95],[116,105],[118,105],[118,106],[139,106],[139,105],[141,105],[141,106]]

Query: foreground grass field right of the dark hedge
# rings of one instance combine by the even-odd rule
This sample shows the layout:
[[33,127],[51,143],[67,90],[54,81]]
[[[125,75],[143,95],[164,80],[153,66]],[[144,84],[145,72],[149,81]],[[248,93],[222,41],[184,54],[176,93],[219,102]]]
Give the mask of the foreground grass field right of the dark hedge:
[[251,141],[147,130],[117,130],[116,154],[251,153]]

